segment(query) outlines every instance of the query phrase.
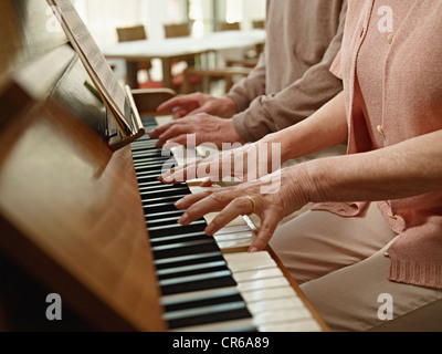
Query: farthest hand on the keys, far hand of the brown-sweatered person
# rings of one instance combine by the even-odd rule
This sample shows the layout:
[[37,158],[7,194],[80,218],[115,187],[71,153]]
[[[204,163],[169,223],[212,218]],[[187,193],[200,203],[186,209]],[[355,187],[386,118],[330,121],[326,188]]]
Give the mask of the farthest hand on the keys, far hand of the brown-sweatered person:
[[188,115],[207,113],[222,118],[230,118],[238,113],[236,103],[229,97],[213,97],[203,93],[178,96],[161,104],[159,113],[172,111],[173,119]]

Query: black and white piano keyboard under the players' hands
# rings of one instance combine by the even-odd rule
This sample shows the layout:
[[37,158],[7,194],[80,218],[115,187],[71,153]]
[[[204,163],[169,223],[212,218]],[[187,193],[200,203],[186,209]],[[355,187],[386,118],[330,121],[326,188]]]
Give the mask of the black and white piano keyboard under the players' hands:
[[[147,132],[154,118],[143,118]],[[242,218],[213,238],[208,218],[180,226],[176,201],[198,187],[157,180],[176,163],[147,135],[131,145],[157,269],[164,320],[177,332],[316,332],[314,319],[269,252],[248,253],[254,232]]]

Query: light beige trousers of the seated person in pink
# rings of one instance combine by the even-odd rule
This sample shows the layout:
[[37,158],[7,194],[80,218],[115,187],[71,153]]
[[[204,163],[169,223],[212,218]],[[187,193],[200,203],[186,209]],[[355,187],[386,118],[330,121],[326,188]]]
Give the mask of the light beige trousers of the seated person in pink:
[[396,237],[371,204],[355,218],[307,211],[281,226],[271,247],[332,331],[362,332],[442,299],[442,290],[388,280]]

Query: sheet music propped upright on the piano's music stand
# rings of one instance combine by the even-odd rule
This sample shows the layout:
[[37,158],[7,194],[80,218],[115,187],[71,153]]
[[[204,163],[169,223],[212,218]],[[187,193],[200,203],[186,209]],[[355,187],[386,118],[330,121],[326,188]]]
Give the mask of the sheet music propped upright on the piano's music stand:
[[104,102],[125,135],[134,134],[134,127],[125,116],[126,95],[102,51],[83,23],[70,0],[48,0],[85,69],[102,94]]

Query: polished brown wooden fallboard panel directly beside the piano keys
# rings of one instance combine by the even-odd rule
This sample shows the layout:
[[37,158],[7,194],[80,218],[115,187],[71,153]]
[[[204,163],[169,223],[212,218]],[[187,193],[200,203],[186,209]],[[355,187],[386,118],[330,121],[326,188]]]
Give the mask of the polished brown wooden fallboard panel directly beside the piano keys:
[[0,138],[2,249],[99,329],[164,330],[130,152],[52,102]]

